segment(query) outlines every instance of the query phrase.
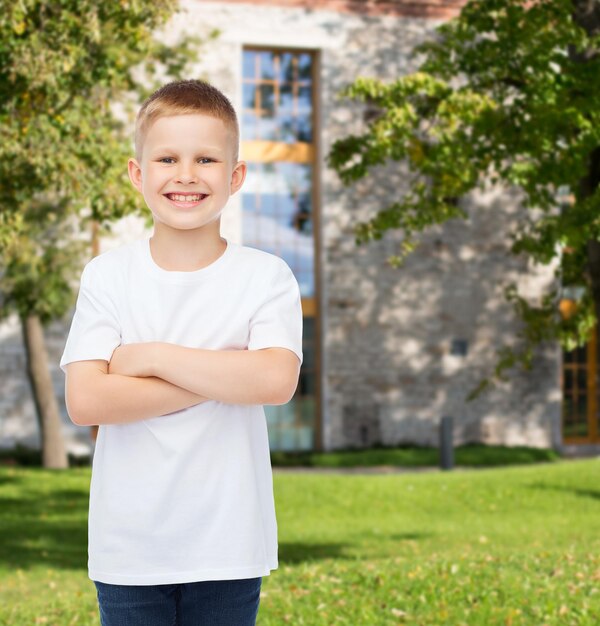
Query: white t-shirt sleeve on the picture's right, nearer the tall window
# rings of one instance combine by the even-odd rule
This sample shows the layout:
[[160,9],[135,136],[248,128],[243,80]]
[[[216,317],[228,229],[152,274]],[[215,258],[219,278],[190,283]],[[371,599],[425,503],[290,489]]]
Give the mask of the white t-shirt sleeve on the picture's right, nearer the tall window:
[[298,281],[280,259],[264,301],[250,319],[249,350],[287,348],[302,363],[302,305]]

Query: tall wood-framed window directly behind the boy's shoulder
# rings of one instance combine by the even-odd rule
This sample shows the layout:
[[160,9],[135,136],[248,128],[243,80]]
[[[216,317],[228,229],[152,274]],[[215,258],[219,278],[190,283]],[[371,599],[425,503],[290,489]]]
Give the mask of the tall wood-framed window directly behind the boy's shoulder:
[[319,445],[313,75],[309,52],[244,51],[243,242],[288,263],[300,285],[304,314],[304,363],[296,395],[285,406],[265,407],[273,450]]

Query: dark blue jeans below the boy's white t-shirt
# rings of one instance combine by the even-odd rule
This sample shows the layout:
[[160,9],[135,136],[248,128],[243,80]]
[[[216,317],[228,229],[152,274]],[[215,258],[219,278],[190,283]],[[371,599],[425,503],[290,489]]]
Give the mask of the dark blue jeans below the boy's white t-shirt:
[[176,585],[94,581],[102,626],[254,626],[262,578]]

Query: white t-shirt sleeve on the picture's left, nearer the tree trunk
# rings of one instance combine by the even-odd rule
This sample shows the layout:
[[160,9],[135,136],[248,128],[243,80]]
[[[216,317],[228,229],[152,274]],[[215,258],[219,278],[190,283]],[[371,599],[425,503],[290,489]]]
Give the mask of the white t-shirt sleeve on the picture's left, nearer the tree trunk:
[[117,310],[101,277],[89,263],[81,275],[79,295],[60,367],[73,361],[110,361],[121,344]]

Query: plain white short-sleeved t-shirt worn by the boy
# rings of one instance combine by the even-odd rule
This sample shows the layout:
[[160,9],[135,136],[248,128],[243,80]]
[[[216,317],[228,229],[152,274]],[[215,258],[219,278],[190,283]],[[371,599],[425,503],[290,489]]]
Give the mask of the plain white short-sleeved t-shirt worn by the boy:
[[[156,265],[149,239],[90,261],[61,367],[108,361],[120,344],[148,341],[211,350],[281,347],[302,362],[298,283],[279,257],[231,241],[193,272]],[[101,425],[88,565],[92,580],[120,585],[255,578],[276,569],[263,407],[208,401]]]

